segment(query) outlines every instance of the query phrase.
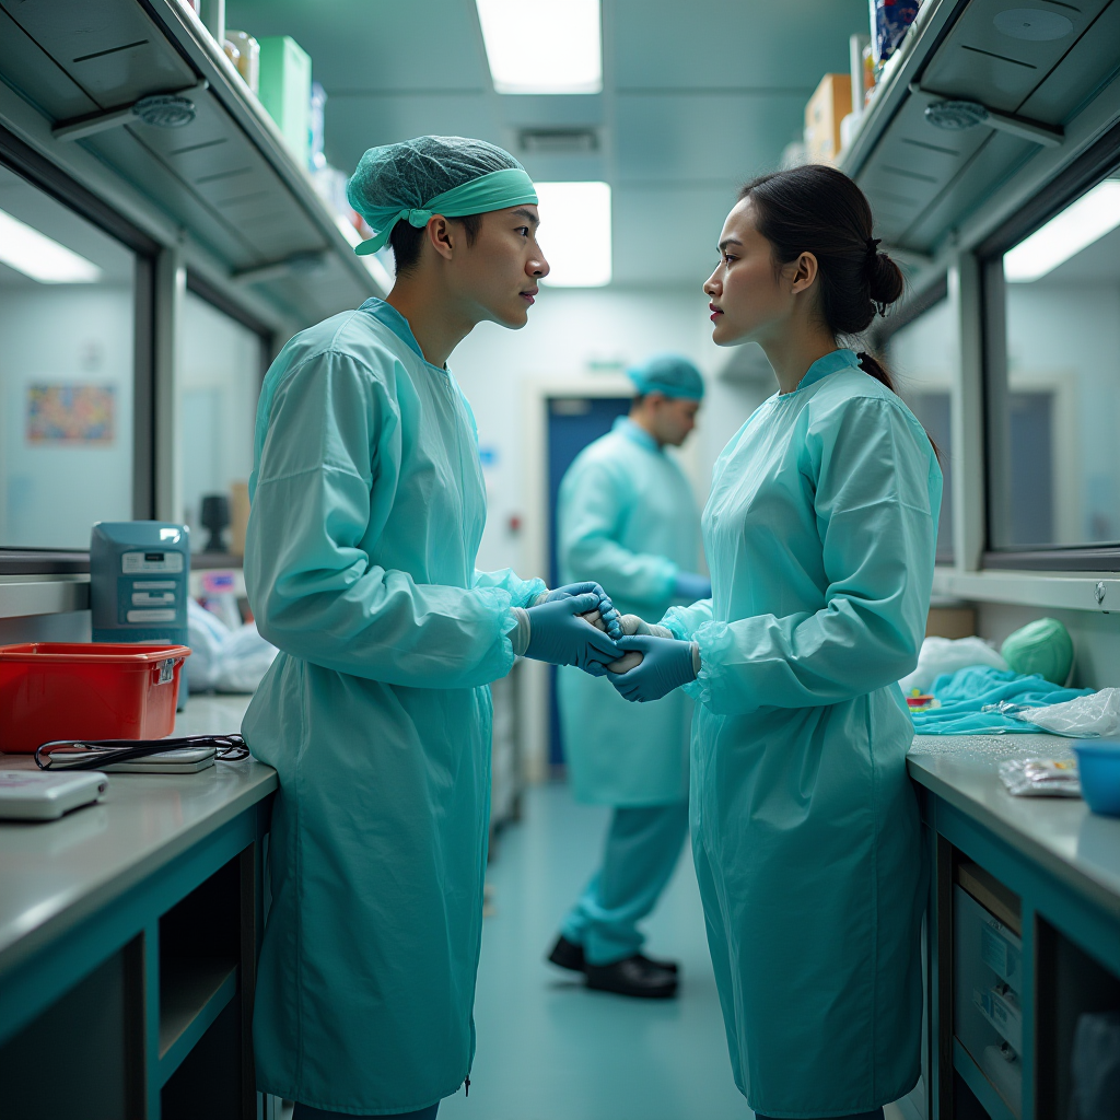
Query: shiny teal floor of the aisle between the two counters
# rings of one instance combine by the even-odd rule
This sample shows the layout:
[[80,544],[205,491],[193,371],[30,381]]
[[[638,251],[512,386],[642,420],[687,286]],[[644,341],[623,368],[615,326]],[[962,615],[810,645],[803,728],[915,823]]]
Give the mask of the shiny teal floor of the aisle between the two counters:
[[676,1000],[587,991],[545,964],[557,924],[595,868],[608,811],[535,787],[489,869],[470,1096],[440,1120],[749,1120],[731,1081],[691,857],[648,922],[648,950],[681,962]]

